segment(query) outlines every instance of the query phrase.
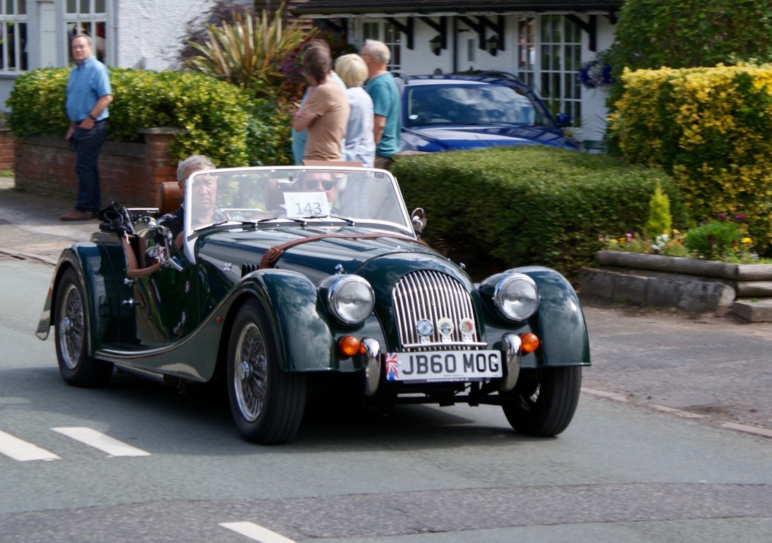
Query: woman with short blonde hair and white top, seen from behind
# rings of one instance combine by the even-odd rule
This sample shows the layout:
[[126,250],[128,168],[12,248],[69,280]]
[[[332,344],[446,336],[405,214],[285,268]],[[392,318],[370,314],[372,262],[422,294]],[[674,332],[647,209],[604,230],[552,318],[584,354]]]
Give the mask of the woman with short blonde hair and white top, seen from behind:
[[346,97],[351,110],[346,127],[346,160],[373,168],[373,100],[362,87],[367,80],[367,64],[357,54],[344,55],[335,61],[335,72],[346,83]]

